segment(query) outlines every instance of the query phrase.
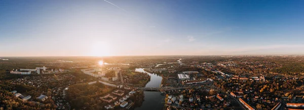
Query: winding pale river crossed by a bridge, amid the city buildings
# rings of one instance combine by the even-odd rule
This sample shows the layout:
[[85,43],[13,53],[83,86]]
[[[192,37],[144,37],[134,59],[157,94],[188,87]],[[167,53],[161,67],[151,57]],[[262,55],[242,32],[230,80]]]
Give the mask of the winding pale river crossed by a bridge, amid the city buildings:
[[[146,72],[143,70],[143,68],[136,68],[135,71],[138,72]],[[162,83],[162,77],[158,76],[157,74],[148,73],[150,75],[150,81],[145,85],[145,87],[160,87]],[[142,105],[140,107],[135,108],[135,110],[138,109],[163,109],[164,107],[164,96],[161,95],[161,92],[157,91],[144,91],[144,101],[142,102]]]

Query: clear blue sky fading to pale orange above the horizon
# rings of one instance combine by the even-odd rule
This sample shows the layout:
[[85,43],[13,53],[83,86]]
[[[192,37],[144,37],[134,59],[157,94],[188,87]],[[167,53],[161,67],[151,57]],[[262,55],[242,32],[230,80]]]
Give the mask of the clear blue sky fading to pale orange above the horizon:
[[304,1],[0,1],[0,56],[304,54]]

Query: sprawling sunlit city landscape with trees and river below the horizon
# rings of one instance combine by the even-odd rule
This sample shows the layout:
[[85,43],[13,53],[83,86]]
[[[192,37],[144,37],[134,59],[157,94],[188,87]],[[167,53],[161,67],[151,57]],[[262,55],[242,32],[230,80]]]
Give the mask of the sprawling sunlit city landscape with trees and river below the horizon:
[[3,57],[0,109],[304,109],[303,74],[300,55]]

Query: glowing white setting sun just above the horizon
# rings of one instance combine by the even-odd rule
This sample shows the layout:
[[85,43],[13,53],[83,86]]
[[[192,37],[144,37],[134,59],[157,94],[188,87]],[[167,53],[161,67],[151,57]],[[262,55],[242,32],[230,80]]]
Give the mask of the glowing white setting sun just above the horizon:
[[91,56],[110,56],[110,46],[106,42],[96,42],[92,45]]

